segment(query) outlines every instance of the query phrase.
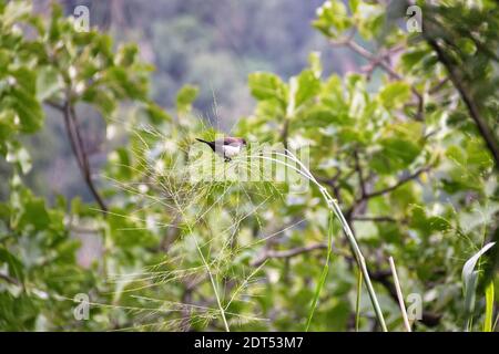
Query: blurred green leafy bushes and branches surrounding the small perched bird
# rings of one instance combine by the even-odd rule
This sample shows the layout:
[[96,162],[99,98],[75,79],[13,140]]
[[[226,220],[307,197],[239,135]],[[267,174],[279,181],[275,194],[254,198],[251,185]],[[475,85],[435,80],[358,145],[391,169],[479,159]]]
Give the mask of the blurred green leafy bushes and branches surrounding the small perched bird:
[[[0,329],[224,330],[222,308],[231,330],[303,330],[326,258],[328,210],[319,191],[193,183],[192,154],[202,147],[192,142],[217,133],[193,107],[197,86],[181,88],[165,111],[151,98],[152,67],[135,45],[75,31],[57,6],[45,19],[27,1],[0,3],[0,154],[12,167],[2,174],[9,195],[0,204]],[[496,2],[427,10],[497,137]],[[366,73],[324,75],[327,59],[317,52],[289,79],[253,72],[256,105],[234,134],[255,146],[309,148],[312,173],[337,198],[366,256],[389,330],[401,329],[389,256],[406,296],[422,300],[417,330],[481,330],[485,292],[477,288],[475,305],[465,308],[461,270],[497,235],[495,162],[429,40],[400,28],[400,14],[371,1],[326,1],[313,25],[327,40],[370,43],[373,55],[397,48],[399,59],[370,63],[381,71],[376,90]],[[179,21],[187,34],[203,33]],[[48,204],[26,186],[33,162],[23,139],[40,134],[45,114],[63,125],[67,107],[77,123],[85,124],[85,110],[104,118],[113,150],[99,178],[86,179],[99,179],[108,212],[80,198]],[[336,222],[314,331],[355,329],[356,269]],[[83,264],[78,258],[92,240],[96,256]],[[493,261],[481,260],[473,260],[473,277],[483,278]],[[91,299],[88,321],[73,315],[78,293]],[[364,290],[360,330],[378,330]]]

